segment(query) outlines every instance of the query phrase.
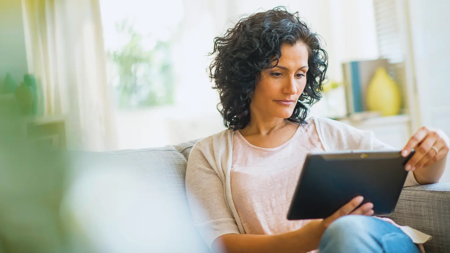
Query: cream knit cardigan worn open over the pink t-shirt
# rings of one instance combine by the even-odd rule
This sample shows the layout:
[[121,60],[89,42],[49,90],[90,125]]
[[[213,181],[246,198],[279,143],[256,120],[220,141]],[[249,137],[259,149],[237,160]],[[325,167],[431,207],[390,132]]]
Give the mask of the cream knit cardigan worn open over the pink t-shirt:
[[[315,121],[317,133],[326,152],[393,149],[376,139],[372,131],[361,131],[328,118],[309,120]],[[231,193],[233,135],[233,131],[225,130],[202,139],[193,146],[189,154],[186,170],[189,206],[194,224],[209,247],[221,235],[245,234]],[[404,186],[412,185],[419,183],[413,173],[409,172]],[[415,231],[417,230],[412,231],[413,241]],[[410,235],[411,231],[407,234]],[[423,235],[416,236],[414,242],[424,243],[430,238]]]

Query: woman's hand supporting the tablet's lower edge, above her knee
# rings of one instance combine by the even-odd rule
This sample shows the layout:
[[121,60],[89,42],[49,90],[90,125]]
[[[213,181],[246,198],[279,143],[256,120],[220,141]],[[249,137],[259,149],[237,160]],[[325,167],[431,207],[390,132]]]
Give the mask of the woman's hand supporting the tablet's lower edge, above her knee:
[[338,218],[349,214],[366,216],[373,215],[374,210],[372,210],[372,208],[374,208],[374,204],[372,203],[365,203],[364,205],[357,208],[363,202],[363,200],[364,198],[362,196],[355,197],[349,203],[342,206],[342,208],[339,208],[339,210],[333,213],[330,217],[323,220],[313,220],[306,224],[302,229],[300,229],[302,231],[308,232],[308,235],[306,236],[308,237],[307,239],[309,240],[310,244],[306,247],[306,252],[319,248],[320,239],[322,239],[322,235],[324,234],[325,230],[328,228],[328,226],[330,226],[331,223],[333,223],[333,221],[337,220]]

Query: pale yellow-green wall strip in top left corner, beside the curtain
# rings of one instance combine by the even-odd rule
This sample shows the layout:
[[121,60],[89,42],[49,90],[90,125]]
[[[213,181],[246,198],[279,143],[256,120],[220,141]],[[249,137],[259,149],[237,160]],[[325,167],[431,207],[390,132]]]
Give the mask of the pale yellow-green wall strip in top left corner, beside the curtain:
[[0,1],[0,83],[10,72],[20,85],[27,73],[27,53],[20,0]]

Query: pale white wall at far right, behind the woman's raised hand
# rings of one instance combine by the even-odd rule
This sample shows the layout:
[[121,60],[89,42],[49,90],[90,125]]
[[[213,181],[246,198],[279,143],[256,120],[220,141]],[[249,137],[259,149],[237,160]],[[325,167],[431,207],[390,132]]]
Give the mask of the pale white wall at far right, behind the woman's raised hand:
[[[450,136],[450,2],[408,0],[407,4],[421,125]],[[450,182],[450,158],[441,182]]]

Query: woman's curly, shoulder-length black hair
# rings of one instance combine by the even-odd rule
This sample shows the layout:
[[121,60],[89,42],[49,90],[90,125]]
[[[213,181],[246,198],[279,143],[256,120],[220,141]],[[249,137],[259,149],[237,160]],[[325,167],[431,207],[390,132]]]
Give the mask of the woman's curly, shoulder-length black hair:
[[284,43],[304,43],[308,48],[306,87],[297,101],[291,122],[306,123],[307,105],[322,97],[325,72],[328,66],[327,52],[321,47],[321,37],[305,22],[298,12],[289,13],[279,6],[266,12],[242,18],[223,36],[214,38],[215,54],[209,66],[210,78],[219,91],[217,109],[224,118],[224,125],[231,130],[243,129],[250,122],[250,101],[261,71],[274,68],[281,57]]

